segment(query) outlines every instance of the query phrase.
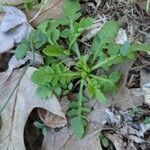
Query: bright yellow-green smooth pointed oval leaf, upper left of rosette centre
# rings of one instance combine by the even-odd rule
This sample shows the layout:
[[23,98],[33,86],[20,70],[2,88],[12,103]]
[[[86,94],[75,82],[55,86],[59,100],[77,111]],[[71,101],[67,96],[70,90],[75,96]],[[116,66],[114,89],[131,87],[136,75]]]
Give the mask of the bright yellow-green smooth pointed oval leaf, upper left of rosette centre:
[[60,56],[67,56],[69,55],[68,50],[64,50],[63,48],[57,46],[57,45],[51,45],[47,46],[45,49],[43,49],[43,53],[47,56],[55,56],[55,57],[60,57]]

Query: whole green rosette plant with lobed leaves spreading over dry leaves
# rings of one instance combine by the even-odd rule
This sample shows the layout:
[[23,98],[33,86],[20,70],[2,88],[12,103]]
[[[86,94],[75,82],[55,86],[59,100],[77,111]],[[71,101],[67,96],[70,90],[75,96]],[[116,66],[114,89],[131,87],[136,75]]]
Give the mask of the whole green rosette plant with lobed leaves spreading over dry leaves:
[[[87,125],[86,116],[90,112],[86,107],[89,99],[84,91],[92,99],[106,102],[106,94],[116,91],[121,76],[119,71],[111,72],[112,65],[133,59],[136,51],[150,51],[150,46],[129,42],[116,44],[118,22],[108,21],[92,40],[90,53],[81,51],[78,39],[93,24],[93,19],[81,17],[78,0],[65,0],[63,14],[61,19],[41,23],[29,39],[18,46],[23,50],[16,49],[16,57],[24,57],[31,49],[30,41],[32,48],[44,56],[45,64],[31,77],[38,86],[36,94],[40,98],[64,95],[76,87],[76,97],[70,103],[67,115],[75,135],[82,138]],[[68,67],[66,62],[70,58],[74,63]]]

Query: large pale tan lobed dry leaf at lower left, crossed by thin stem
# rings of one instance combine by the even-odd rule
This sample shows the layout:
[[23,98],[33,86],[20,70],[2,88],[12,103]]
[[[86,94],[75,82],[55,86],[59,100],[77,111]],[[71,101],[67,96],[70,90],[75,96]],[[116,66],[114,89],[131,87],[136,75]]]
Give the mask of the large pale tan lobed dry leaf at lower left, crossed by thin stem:
[[25,150],[24,127],[29,114],[34,108],[46,109],[54,116],[66,120],[56,97],[53,96],[47,100],[35,97],[36,86],[30,81],[34,70],[35,68],[30,67],[25,74],[24,68],[14,71],[9,80],[0,88],[0,106],[2,107],[10,98],[20,77],[24,74],[5,109],[1,112],[0,149],[2,150]]

